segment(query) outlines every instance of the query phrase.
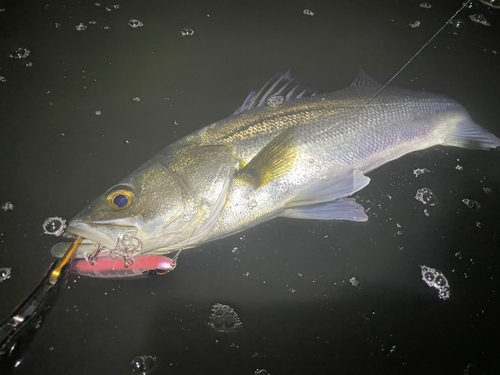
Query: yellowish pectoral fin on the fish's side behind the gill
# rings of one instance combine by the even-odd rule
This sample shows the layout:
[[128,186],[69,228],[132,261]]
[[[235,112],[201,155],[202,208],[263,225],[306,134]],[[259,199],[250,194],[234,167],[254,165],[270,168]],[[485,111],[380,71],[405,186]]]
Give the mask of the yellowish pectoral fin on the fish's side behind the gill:
[[298,152],[294,147],[293,135],[296,126],[282,131],[269,142],[248,164],[236,174],[255,189],[283,177],[295,165]]

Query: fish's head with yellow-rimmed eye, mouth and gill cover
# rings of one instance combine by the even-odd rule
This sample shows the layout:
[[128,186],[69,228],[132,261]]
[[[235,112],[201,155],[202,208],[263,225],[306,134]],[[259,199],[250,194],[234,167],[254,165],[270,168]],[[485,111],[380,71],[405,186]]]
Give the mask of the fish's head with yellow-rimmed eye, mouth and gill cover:
[[[168,252],[189,240],[206,211],[174,172],[162,163],[149,163],[85,207],[69,222],[64,237],[84,238],[77,258],[98,248],[99,256],[123,253],[131,244],[136,255]],[[60,257],[68,247],[56,244],[52,254]]]

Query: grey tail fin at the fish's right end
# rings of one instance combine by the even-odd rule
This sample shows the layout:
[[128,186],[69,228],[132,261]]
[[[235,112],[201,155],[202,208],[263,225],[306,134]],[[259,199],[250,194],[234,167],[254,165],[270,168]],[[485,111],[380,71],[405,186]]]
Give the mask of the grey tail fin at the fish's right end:
[[470,120],[457,124],[446,135],[443,145],[488,150],[500,147],[500,139]]

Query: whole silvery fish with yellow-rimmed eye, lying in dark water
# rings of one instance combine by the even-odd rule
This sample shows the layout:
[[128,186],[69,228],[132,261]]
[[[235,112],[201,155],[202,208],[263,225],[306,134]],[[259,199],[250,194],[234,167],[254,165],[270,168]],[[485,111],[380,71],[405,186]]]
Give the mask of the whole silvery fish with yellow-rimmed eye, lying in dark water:
[[[167,146],[70,222],[76,258],[163,255],[265,221],[368,219],[352,197],[367,174],[436,145],[487,150],[500,139],[443,95],[382,86],[360,70],[321,94],[277,73],[229,117]],[[69,243],[54,245],[61,257]]]

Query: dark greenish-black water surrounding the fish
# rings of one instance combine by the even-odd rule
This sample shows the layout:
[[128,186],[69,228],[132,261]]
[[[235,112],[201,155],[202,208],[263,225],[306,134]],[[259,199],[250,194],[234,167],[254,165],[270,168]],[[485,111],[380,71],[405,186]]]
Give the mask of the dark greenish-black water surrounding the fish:
[[[14,204],[0,211],[0,267],[12,268],[0,317],[53,261],[47,217],[70,219],[277,71],[322,92],[359,68],[386,82],[461,6],[420,3],[0,2],[0,203]],[[479,3],[458,18],[463,28],[447,26],[394,84],[449,96],[498,136],[500,11]],[[18,47],[30,55],[9,58]],[[71,275],[16,373],[131,374],[132,358],[151,355],[153,374],[463,374],[471,363],[498,374],[499,159],[432,148],[370,173],[358,194],[367,223],[279,219],[183,252],[163,277]],[[434,206],[415,200],[423,187]],[[422,281],[424,264],[444,273],[451,298]],[[216,303],[240,330],[208,326]]]

